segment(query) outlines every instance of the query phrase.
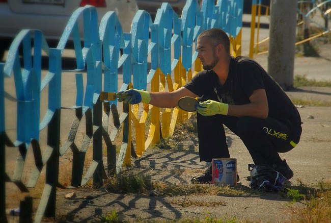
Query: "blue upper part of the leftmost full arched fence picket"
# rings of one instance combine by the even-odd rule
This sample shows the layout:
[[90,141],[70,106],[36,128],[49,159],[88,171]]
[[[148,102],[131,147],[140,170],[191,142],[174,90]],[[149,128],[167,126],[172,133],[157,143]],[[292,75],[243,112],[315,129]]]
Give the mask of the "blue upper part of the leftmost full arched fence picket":
[[[31,35],[35,42],[42,40],[41,31],[22,30],[9,49],[9,60],[5,64],[7,77],[14,75],[17,96],[17,143],[29,147],[31,139],[39,139],[40,88],[41,88],[41,41],[34,48],[34,63],[31,55]],[[23,45],[23,66],[19,60],[18,48]],[[46,51],[48,51],[48,47]],[[23,67],[21,69],[21,67]],[[35,69],[36,67],[36,69]]]

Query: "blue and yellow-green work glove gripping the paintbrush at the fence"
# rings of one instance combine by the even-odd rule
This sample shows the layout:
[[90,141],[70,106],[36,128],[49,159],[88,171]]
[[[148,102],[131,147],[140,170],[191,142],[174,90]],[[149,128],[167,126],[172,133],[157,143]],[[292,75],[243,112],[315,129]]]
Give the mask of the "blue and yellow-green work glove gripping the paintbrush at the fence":
[[138,104],[138,103],[149,103],[151,101],[151,94],[147,91],[129,89],[126,91],[120,91],[116,94],[119,102],[126,104]]

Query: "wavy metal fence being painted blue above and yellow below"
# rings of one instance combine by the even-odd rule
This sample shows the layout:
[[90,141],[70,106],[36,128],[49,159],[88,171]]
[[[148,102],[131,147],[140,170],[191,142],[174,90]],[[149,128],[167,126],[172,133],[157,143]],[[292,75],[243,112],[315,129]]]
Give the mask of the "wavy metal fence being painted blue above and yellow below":
[[[118,174],[122,166],[130,165],[131,156],[140,157],[149,145],[158,143],[161,137],[171,136],[176,123],[189,118],[189,113],[178,108],[160,111],[155,106],[141,103],[133,106],[123,104],[123,112],[119,114],[112,93],[106,95],[104,102],[100,100],[100,93],[124,91],[132,87],[150,87],[151,91],[178,89],[202,69],[195,44],[198,35],[212,27],[222,28],[229,34],[232,54],[239,56],[242,5],[242,0],[218,0],[216,5],[213,0],[204,0],[200,9],[197,0],[188,0],[179,18],[169,4],[163,3],[154,22],[147,12],[139,10],[132,21],[130,33],[123,33],[115,12],[106,13],[99,25],[96,9],[85,6],[72,14],[57,48],[48,47],[42,31],[22,30],[10,46],[6,63],[0,64],[0,192],[6,194],[5,182],[14,183],[22,192],[29,191],[29,188],[36,186],[45,167],[44,189],[34,215],[34,221],[40,222],[43,216],[54,217],[56,214],[56,187],[66,186],[59,182],[59,160],[68,151],[72,152],[70,187],[85,185],[92,177],[93,184],[101,186],[107,176]],[[84,28],[83,36],[79,34],[78,23],[82,23]],[[62,58],[69,39],[74,43],[76,68],[70,72],[75,75],[76,102],[71,107],[63,107],[61,98],[67,95],[62,95],[62,86],[66,85],[62,75],[69,71],[62,70]],[[81,41],[84,42],[83,46]],[[20,48],[23,50],[22,57]],[[42,54],[48,58],[45,77],[42,75]],[[123,74],[121,86],[118,81],[120,68]],[[5,78],[13,79],[12,88],[16,97],[5,91],[9,87],[4,87]],[[41,100],[42,92],[47,95],[46,101]],[[5,107],[8,98],[17,108],[15,140],[6,132],[6,109],[12,109]],[[41,105],[47,107],[42,119]],[[60,125],[61,111],[65,110],[74,111],[69,130]],[[150,123],[147,122],[148,116]],[[85,123],[82,122],[83,118]],[[76,136],[83,123],[84,137],[78,145]],[[133,128],[135,148],[132,142]],[[148,128],[145,136],[145,129]],[[45,144],[40,143],[43,129],[47,131]],[[62,144],[61,132],[68,132]],[[115,139],[119,137],[122,139],[117,153]],[[9,176],[5,169],[5,149],[10,147],[18,151],[13,176]],[[90,147],[92,161],[86,159]],[[34,169],[25,183],[22,176],[26,154],[31,149]],[[107,154],[106,165],[103,163],[103,150]],[[21,203],[21,217],[23,209],[30,210],[24,216],[31,217],[31,203],[29,197]],[[7,221],[5,204],[5,196],[2,196],[1,222]]]

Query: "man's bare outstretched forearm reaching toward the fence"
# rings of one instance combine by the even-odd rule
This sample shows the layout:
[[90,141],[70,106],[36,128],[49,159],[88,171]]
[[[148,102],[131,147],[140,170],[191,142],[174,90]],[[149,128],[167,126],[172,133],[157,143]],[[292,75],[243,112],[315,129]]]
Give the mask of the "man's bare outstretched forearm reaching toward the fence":
[[185,87],[181,87],[175,91],[167,92],[151,92],[151,101],[149,104],[154,105],[159,108],[175,108],[178,106],[178,100],[184,96],[197,97]]

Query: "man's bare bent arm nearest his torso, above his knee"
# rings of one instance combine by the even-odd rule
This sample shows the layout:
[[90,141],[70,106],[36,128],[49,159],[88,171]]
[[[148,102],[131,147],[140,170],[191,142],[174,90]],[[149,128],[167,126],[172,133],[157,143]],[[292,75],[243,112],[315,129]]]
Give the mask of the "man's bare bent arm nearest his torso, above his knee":
[[267,95],[264,89],[256,89],[250,96],[250,104],[229,105],[228,115],[267,118],[269,113]]

